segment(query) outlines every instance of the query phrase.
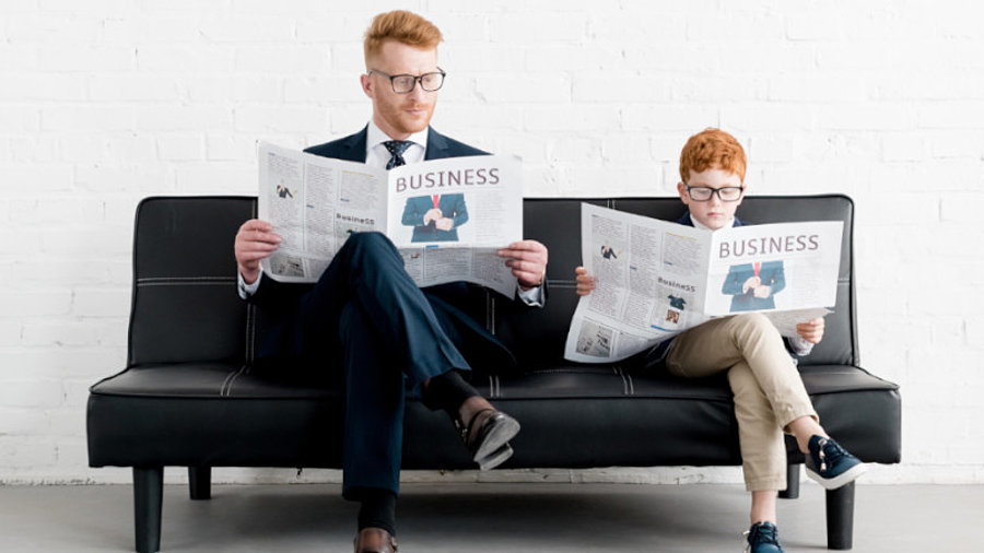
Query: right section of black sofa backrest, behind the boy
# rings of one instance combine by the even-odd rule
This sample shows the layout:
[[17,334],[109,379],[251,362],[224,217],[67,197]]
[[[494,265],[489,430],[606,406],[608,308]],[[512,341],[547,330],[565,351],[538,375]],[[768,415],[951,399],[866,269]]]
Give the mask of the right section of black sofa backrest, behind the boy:
[[[547,266],[549,296],[543,309],[524,309],[494,298],[496,333],[524,365],[550,366],[561,361],[571,316],[577,303],[574,268],[581,261],[581,204],[677,221],[683,213],[679,198],[527,199],[524,236],[542,242],[550,255]],[[749,224],[790,221],[843,221],[841,266],[834,313],[827,316],[823,340],[805,364],[857,365],[853,287],[854,204],[846,196],[751,196],[738,208],[738,217]]]

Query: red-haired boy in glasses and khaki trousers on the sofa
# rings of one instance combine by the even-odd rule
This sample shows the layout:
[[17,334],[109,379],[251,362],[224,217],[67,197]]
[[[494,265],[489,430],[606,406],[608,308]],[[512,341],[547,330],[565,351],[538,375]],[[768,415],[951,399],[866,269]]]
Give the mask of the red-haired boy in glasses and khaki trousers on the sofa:
[[[691,137],[680,154],[683,181],[677,191],[687,211],[678,223],[711,231],[740,226],[735,211],[747,188],[746,163],[741,144],[727,132],[706,129]],[[594,278],[583,267],[575,273],[577,294],[590,294]],[[789,355],[807,355],[820,342],[823,318],[798,325],[797,332],[784,342],[759,313],[719,317],[634,357],[643,369],[665,365],[679,377],[727,373],[735,395],[746,489],[752,494],[752,526],[747,532],[747,551],[752,553],[783,551],[775,527],[776,493],[786,487],[783,432],[796,437],[806,455],[807,474],[828,490],[853,482],[865,471],[865,466],[820,426]]]

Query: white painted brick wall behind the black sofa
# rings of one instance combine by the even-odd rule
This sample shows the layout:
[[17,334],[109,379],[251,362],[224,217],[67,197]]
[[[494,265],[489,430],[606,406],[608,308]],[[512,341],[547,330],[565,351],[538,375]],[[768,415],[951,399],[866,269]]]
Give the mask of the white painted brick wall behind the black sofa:
[[[904,410],[903,464],[867,481],[982,483],[979,5],[3,2],[0,483],[127,479],[86,467],[84,405],[86,386],[125,363],[137,201],[253,193],[256,140],[300,148],[364,125],[360,39],[394,7],[446,34],[435,126],[522,155],[529,196],[671,193],[680,146],[707,126],[748,146],[753,193],[851,195],[862,358],[902,385]],[[550,478],[738,481],[730,469]]]

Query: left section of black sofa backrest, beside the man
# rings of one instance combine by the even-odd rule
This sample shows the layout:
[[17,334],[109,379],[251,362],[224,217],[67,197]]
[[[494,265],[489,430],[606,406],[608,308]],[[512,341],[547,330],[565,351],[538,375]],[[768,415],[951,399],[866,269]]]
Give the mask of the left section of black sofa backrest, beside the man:
[[147,198],[133,230],[128,366],[243,362],[251,346],[233,244],[253,197]]

